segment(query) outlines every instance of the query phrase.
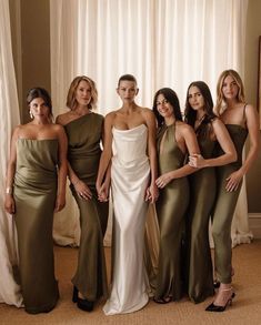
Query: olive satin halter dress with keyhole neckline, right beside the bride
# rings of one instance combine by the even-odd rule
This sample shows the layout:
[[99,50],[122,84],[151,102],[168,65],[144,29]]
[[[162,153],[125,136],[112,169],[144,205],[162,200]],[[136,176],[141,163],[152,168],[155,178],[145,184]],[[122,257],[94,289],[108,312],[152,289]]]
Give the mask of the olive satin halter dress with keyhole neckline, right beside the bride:
[[[174,124],[160,129],[157,150],[159,175],[183,165],[185,156],[175,142]],[[169,297],[175,301],[182,297],[181,236],[189,196],[188,180],[181,177],[162,189],[155,203],[160,227],[159,273],[154,293],[158,301]]]

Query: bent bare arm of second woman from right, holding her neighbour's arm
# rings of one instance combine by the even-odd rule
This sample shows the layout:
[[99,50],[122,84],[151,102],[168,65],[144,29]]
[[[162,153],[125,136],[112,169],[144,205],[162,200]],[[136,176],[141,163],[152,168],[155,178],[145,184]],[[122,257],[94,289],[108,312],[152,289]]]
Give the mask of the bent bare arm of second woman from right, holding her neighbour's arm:
[[222,166],[228,163],[237,161],[235,148],[233,145],[233,142],[223,122],[220,121],[219,119],[215,119],[212,122],[212,126],[213,126],[215,138],[223,151],[223,154],[212,159],[203,159],[202,155],[190,156],[189,164],[191,166],[199,167],[199,169],[213,167],[213,166]]

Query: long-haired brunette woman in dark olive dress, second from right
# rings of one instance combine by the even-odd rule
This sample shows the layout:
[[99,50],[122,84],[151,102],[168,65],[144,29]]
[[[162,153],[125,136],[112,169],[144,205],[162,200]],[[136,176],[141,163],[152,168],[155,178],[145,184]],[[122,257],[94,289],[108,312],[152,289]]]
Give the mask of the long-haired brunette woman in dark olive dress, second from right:
[[[209,220],[217,187],[213,166],[234,161],[237,153],[225,126],[213,113],[211,92],[203,81],[189,85],[184,114],[185,122],[195,131],[201,152],[195,165],[200,170],[189,176],[191,197],[187,217],[188,295],[200,303],[214,293],[209,246]],[[219,158],[215,158],[217,144],[223,150]],[[191,165],[194,158],[190,158]]]

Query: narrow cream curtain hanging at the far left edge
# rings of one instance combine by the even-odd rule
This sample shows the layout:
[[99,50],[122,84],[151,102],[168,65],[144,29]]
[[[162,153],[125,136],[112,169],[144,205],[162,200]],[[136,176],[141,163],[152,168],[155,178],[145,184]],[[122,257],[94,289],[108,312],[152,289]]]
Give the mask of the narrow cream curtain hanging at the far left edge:
[[19,124],[19,106],[12,61],[9,1],[0,1],[0,302],[21,306],[20,287],[14,282],[17,264],[13,220],[4,212],[7,161],[12,128]]

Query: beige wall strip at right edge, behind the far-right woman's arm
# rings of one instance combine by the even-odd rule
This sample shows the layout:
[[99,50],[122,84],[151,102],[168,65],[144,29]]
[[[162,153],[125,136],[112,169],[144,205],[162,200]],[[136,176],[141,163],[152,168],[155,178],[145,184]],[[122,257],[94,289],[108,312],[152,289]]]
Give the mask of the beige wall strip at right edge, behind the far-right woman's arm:
[[[249,103],[257,105],[258,99],[258,44],[261,35],[261,1],[249,0],[245,43],[245,94]],[[261,112],[260,112],[261,113]],[[261,133],[260,133],[261,138]],[[261,150],[247,176],[249,212],[261,213]]]

